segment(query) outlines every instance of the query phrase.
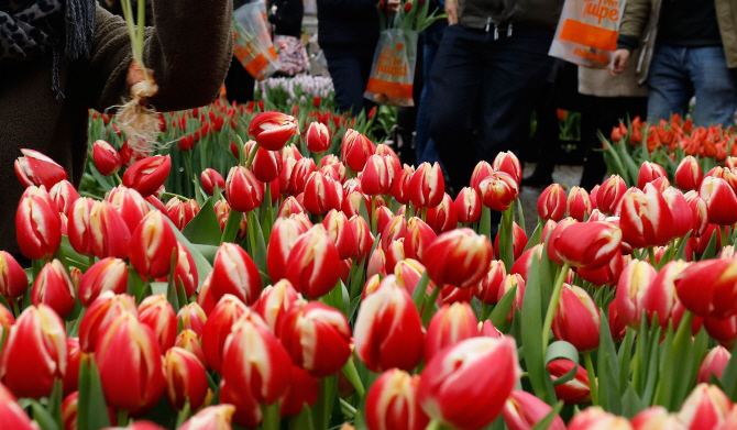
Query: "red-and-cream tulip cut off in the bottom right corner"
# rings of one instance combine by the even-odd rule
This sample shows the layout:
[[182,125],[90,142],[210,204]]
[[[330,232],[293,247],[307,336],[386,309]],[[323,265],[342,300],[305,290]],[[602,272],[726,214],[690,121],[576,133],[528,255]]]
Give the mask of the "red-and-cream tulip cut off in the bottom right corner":
[[716,385],[698,384],[681,405],[678,417],[689,429],[713,429],[730,409],[729,397]]

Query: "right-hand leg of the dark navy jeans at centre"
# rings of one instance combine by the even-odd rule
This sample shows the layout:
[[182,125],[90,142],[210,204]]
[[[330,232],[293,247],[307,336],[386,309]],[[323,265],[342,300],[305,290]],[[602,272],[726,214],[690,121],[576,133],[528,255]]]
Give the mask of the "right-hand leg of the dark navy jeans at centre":
[[486,49],[479,157],[492,162],[518,148],[535,101],[546,85],[553,59],[552,33],[516,32]]

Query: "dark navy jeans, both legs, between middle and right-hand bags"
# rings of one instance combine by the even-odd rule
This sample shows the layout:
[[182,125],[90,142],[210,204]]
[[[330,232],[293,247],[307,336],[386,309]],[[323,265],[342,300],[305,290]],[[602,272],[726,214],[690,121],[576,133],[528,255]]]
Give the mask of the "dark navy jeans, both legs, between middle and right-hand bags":
[[552,32],[449,26],[435,60],[430,136],[458,192],[474,165],[516,151],[552,67]]

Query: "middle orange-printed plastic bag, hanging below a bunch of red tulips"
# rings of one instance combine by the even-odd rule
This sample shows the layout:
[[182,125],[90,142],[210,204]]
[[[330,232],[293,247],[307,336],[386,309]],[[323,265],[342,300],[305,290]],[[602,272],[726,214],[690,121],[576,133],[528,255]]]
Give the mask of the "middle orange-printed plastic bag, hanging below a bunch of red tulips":
[[403,29],[382,31],[369,86],[363,97],[380,104],[415,106],[413,81],[417,60],[417,32]]

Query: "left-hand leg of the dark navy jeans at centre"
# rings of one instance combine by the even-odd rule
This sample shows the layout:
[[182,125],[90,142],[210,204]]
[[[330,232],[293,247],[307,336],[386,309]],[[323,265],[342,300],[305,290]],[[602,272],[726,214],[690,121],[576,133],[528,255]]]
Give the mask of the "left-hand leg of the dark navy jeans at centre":
[[432,81],[430,137],[458,192],[469,185],[476,163],[472,133],[477,128],[479,102],[483,85],[484,35],[451,25],[443,34]]

